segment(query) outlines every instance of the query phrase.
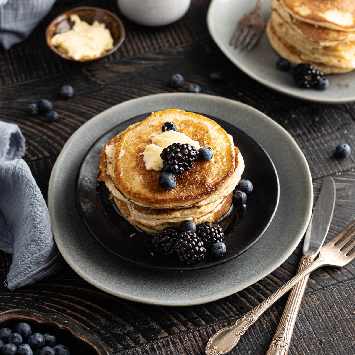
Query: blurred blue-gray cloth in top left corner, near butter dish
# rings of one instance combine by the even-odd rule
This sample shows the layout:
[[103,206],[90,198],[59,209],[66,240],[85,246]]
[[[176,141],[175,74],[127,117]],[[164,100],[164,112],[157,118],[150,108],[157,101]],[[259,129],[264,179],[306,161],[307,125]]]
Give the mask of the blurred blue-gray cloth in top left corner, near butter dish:
[[55,0],[0,0],[0,44],[9,49],[26,39]]

